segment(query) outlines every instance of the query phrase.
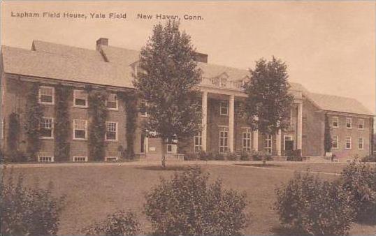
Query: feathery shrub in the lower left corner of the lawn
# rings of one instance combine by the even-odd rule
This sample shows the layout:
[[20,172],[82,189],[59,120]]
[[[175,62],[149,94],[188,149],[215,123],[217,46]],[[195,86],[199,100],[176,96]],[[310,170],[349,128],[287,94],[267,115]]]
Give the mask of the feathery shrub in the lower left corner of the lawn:
[[55,235],[64,197],[55,198],[50,189],[24,187],[22,175],[13,182],[13,171],[1,175],[1,235]]

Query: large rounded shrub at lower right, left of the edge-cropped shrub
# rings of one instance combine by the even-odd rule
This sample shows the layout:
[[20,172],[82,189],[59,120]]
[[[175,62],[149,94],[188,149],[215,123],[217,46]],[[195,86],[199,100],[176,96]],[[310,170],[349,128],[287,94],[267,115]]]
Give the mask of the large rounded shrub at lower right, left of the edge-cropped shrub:
[[277,192],[275,209],[285,226],[303,234],[346,235],[354,216],[349,194],[310,172],[295,173]]

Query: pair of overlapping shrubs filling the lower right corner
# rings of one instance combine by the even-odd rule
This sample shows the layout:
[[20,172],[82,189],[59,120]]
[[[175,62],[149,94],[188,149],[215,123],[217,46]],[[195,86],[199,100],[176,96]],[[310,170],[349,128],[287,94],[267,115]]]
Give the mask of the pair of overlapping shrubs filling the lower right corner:
[[347,235],[351,223],[376,223],[376,168],[355,159],[334,182],[310,172],[276,190],[275,209],[299,234]]

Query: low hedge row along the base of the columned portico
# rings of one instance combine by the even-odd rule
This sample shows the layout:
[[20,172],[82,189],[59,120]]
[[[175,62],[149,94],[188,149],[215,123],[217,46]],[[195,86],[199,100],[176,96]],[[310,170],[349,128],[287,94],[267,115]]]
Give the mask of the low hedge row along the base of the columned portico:
[[190,154],[185,154],[185,161],[262,161],[263,158],[266,161],[273,161],[273,157],[265,152],[229,152],[226,154],[212,153],[212,152],[195,152]]

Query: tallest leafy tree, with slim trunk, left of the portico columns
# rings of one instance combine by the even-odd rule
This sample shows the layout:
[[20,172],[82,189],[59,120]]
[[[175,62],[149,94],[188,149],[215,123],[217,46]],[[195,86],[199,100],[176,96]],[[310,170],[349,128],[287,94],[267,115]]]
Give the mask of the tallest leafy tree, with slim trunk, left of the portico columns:
[[166,144],[201,130],[201,105],[194,87],[201,72],[195,55],[190,36],[180,32],[175,21],[155,25],[140,52],[134,85],[147,103],[145,131],[154,131],[161,138],[162,160]]

